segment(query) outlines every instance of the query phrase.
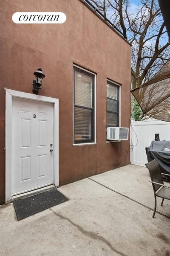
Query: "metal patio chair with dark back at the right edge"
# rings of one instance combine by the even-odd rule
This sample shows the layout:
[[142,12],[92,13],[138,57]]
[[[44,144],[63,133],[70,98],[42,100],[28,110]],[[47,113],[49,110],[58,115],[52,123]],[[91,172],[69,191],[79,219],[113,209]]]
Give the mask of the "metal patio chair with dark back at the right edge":
[[156,212],[156,197],[162,198],[161,201],[161,206],[164,202],[164,199],[169,199],[170,200],[170,187],[164,185],[163,179],[162,179],[162,174],[170,176],[169,174],[161,173],[160,166],[158,162],[154,159],[153,161],[146,163],[146,167],[149,169],[150,173],[150,178],[151,178],[151,183],[153,186],[153,192],[154,192],[154,198],[155,198],[155,207],[153,211],[153,218],[155,216]]

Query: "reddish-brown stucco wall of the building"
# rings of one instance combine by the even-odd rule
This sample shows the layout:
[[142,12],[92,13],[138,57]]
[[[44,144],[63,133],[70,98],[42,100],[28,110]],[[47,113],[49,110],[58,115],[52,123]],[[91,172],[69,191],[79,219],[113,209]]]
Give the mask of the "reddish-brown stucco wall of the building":
[[[63,24],[15,24],[14,12],[64,12]],[[33,72],[46,77],[39,95],[59,98],[59,184],[130,163],[129,141],[106,143],[106,79],[122,84],[121,126],[130,119],[130,45],[81,0],[0,3],[0,202],[5,198],[5,90],[32,93]],[[73,63],[97,73],[96,145],[72,145]]]

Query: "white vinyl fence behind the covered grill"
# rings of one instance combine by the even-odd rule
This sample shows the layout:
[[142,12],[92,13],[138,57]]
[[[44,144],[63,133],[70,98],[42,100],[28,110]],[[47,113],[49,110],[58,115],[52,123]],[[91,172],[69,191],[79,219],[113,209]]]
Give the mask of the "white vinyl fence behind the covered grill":
[[131,119],[130,126],[130,163],[144,166],[147,163],[145,148],[155,139],[159,133],[160,140],[170,140],[170,122],[149,119],[135,121]]

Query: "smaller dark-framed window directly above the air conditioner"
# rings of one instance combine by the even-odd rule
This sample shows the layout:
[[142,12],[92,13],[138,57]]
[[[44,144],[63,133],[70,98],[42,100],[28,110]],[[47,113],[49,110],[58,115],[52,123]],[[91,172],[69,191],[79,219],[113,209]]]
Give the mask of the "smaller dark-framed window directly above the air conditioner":
[[107,81],[107,127],[119,127],[119,87]]

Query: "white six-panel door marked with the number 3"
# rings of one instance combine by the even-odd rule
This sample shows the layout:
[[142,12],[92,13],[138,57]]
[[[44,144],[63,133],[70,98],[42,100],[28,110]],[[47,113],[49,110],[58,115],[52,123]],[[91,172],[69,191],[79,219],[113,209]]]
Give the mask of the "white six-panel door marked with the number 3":
[[53,104],[13,98],[12,195],[53,184],[52,150]]

